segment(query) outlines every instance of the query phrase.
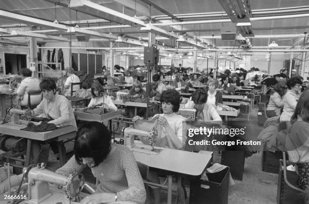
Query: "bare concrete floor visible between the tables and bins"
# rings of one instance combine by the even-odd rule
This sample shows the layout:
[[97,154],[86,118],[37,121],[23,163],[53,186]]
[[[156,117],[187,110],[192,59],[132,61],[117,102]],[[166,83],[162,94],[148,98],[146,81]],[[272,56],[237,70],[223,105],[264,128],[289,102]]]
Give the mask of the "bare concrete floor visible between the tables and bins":
[[[247,120],[247,114],[241,114],[237,120]],[[252,134],[256,138],[263,127],[257,123],[257,106],[250,113],[250,124],[254,126]],[[255,125],[256,124],[256,125]],[[73,142],[66,144],[68,150],[73,149]],[[235,185],[229,187],[228,203],[230,204],[275,204],[277,196],[278,174],[262,171],[262,152],[256,153],[245,160],[242,181],[234,181]],[[214,163],[220,163],[218,152],[214,154]],[[50,151],[48,166],[54,170],[59,168],[59,162]],[[189,188],[186,187],[189,195]],[[175,199],[173,199],[175,201]],[[166,195],[162,195],[162,203],[166,203]],[[189,199],[186,199],[189,203]]]

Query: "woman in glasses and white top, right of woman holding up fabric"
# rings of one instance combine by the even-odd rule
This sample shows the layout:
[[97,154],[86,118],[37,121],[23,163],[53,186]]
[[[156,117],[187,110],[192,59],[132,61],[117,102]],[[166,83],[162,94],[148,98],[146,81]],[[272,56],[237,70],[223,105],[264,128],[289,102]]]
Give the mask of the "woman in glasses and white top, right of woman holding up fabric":
[[185,109],[197,110],[197,121],[215,121],[222,125],[222,119],[213,104],[207,104],[207,92],[204,89],[197,89],[192,93],[192,100],[185,105]]

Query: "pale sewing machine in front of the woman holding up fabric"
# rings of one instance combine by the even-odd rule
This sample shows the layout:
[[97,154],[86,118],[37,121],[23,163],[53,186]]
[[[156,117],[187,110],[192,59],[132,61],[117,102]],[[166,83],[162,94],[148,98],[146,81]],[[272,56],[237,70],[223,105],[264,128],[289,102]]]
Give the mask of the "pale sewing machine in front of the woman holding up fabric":
[[[162,148],[160,147],[155,148],[155,143],[158,137],[158,131],[155,128],[149,131],[143,131],[143,130],[134,129],[132,126],[130,126],[127,128],[123,128],[122,134],[124,136],[125,146],[130,148],[132,151],[143,152],[143,153],[150,154],[150,155],[158,155],[159,152],[162,150]],[[135,135],[142,137],[142,138],[143,137],[147,138],[151,148],[146,149],[144,147],[139,147],[138,144],[136,144],[134,141]]]

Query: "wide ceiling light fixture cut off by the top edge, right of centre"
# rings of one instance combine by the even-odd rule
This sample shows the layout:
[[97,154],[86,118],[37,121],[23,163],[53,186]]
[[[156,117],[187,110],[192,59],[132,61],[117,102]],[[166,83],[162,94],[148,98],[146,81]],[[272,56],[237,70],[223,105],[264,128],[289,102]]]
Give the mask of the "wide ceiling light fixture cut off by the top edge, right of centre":
[[233,23],[249,22],[252,17],[249,0],[218,0]]

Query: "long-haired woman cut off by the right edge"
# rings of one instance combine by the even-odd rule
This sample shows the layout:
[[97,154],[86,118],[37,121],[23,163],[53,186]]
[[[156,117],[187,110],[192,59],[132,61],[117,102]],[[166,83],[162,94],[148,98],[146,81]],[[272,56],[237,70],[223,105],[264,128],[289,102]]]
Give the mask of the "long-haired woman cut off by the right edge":
[[297,165],[299,186],[309,190],[309,90],[300,95],[291,120],[286,150],[289,161]]

